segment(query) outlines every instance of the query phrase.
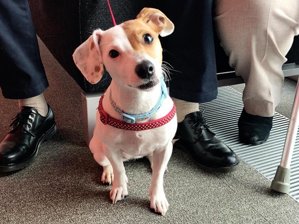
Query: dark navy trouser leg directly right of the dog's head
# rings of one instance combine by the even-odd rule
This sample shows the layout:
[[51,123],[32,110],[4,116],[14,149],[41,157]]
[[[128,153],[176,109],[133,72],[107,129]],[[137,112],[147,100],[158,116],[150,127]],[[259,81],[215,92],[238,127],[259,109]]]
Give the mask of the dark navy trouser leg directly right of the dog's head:
[[161,11],[165,11],[175,28],[173,34],[160,38],[165,49],[163,60],[179,71],[170,70],[173,73],[170,74],[170,96],[196,103],[211,101],[217,96],[213,36],[214,1],[165,2],[167,4]]

